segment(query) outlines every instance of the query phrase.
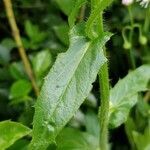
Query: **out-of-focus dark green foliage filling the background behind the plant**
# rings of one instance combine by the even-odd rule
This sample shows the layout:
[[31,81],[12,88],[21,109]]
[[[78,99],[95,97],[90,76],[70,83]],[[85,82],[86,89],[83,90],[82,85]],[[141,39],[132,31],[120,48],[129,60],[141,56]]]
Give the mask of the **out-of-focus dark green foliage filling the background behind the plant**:
[[[12,2],[23,45],[40,88],[56,56],[61,52],[65,52],[69,46],[68,14],[72,10],[74,1],[15,0]],[[131,44],[133,45],[132,54],[136,67],[150,63],[149,22],[147,26],[145,25],[146,16],[150,16],[149,9],[142,8],[137,2],[131,8],[134,22],[141,26],[142,35],[147,39],[146,44],[141,43],[139,41],[139,29],[135,28]],[[90,5],[86,4],[83,20],[87,20],[89,13]],[[114,34],[107,43],[111,86],[114,86],[120,78],[123,78],[132,69],[129,50],[124,49],[124,39],[122,37],[122,31],[128,25],[130,25],[128,8],[122,5],[121,1],[115,0],[111,7],[104,12],[104,28]],[[128,32],[126,34],[128,37]],[[99,94],[97,80],[89,97],[67,126],[81,131],[88,128],[90,131],[96,130],[98,128],[96,114],[99,106]],[[109,136],[112,149],[128,150],[135,148],[149,150],[150,145],[147,149],[146,146],[150,144],[150,135],[147,134],[149,133],[147,130],[150,130],[150,106],[149,99],[144,101],[144,95],[145,93],[142,93],[139,96],[139,101],[131,110],[127,122],[117,129],[110,130]],[[25,73],[1,1],[0,120],[11,119],[32,127],[35,100],[36,96]],[[92,124],[91,122],[95,123]],[[89,124],[88,127],[87,124]],[[96,131],[92,132],[97,134]],[[26,142],[28,142],[28,139],[20,141],[21,144]]]

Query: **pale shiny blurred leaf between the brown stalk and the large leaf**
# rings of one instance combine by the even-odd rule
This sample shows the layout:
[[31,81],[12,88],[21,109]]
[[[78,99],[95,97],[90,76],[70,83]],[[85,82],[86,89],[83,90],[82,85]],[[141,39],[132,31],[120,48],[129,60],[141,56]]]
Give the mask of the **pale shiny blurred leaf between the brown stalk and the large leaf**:
[[49,50],[42,50],[33,57],[33,69],[38,78],[43,77],[51,65],[52,55]]

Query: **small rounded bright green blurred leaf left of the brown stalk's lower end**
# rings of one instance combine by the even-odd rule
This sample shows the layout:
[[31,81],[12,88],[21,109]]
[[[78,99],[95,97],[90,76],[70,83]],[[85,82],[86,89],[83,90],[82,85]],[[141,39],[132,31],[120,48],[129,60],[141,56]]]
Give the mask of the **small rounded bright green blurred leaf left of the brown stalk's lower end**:
[[13,83],[10,89],[10,99],[23,98],[32,90],[31,83],[27,80],[18,80]]

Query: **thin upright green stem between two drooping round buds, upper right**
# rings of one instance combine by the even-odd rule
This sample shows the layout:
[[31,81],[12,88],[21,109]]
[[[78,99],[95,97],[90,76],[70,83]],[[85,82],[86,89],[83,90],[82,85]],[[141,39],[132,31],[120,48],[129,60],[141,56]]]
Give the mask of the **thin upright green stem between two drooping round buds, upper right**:
[[[134,30],[134,19],[133,19],[133,15],[132,15],[132,11],[131,11],[131,6],[128,7],[128,12],[129,12],[130,22],[131,22],[131,27],[132,27],[132,30],[130,32],[129,40],[130,40],[130,43],[133,43],[132,37],[133,37],[133,30]],[[136,68],[136,63],[135,63],[135,58],[134,58],[134,55],[133,55],[133,48],[131,47],[129,51],[130,51],[129,54],[130,54],[132,69],[135,69]]]

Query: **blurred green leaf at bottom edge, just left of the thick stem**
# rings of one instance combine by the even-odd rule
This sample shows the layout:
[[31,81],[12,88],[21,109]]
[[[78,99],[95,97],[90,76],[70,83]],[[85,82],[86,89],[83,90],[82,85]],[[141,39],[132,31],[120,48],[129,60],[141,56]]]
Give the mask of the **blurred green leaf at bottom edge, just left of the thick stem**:
[[65,128],[56,139],[57,150],[97,150],[98,138],[87,132]]

